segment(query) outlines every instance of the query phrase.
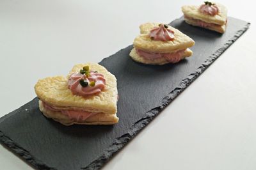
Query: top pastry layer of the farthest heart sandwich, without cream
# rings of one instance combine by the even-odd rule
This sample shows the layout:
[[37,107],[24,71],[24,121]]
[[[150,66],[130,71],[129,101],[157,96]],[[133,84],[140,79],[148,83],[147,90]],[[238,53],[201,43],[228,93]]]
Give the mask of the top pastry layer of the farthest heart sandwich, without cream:
[[200,6],[195,5],[185,5],[182,6],[181,10],[184,15],[192,17],[193,19],[203,20],[204,22],[223,25],[227,20],[227,8],[222,4],[216,3],[216,6],[219,8],[219,12],[216,15],[205,15],[204,13],[199,12],[198,8]]

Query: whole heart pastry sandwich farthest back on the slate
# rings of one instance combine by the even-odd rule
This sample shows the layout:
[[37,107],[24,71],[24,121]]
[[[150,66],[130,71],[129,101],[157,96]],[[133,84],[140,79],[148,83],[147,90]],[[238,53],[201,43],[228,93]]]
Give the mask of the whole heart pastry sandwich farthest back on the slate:
[[201,6],[182,6],[188,24],[224,33],[227,26],[227,8],[219,3],[205,1]]

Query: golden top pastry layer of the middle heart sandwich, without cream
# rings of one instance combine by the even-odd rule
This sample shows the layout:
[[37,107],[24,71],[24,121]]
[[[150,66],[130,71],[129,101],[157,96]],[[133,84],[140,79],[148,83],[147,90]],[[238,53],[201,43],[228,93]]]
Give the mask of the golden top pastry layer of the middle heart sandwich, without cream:
[[173,41],[155,41],[151,40],[148,35],[150,30],[158,26],[159,23],[146,23],[140,26],[141,35],[134,40],[134,47],[147,52],[170,53],[174,50],[187,49],[192,47],[195,42],[187,35],[181,33],[178,29],[168,26],[168,29],[174,31],[175,38]]

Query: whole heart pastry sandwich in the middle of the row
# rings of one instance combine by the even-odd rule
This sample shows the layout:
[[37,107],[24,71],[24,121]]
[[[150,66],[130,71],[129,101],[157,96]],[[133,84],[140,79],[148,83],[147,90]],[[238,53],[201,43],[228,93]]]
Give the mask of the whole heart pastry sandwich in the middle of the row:
[[134,39],[130,56],[149,65],[177,63],[193,54],[188,47],[194,44],[189,36],[172,26],[148,22],[140,26],[140,35]]

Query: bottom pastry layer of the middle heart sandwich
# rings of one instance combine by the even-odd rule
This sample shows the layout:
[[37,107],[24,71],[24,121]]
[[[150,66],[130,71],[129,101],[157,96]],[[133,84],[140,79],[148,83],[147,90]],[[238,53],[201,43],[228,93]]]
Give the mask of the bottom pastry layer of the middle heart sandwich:
[[[190,49],[186,49],[182,59],[192,56],[192,54],[193,54],[193,52]],[[130,56],[132,59],[134,59],[134,61],[137,61],[139,63],[150,64],[150,65],[164,65],[164,64],[170,63],[165,58],[158,58],[158,59],[154,59],[154,60],[145,59],[145,58],[139,56],[134,48],[131,50]]]

